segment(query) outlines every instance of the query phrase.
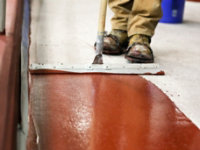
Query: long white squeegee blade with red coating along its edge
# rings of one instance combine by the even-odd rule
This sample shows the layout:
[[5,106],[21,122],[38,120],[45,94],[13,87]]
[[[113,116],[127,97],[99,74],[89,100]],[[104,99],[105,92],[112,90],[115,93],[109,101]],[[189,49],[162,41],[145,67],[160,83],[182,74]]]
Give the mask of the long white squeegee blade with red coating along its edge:
[[164,74],[159,64],[76,64],[76,65],[51,65],[31,64],[31,72],[48,73],[107,73],[107,74]]

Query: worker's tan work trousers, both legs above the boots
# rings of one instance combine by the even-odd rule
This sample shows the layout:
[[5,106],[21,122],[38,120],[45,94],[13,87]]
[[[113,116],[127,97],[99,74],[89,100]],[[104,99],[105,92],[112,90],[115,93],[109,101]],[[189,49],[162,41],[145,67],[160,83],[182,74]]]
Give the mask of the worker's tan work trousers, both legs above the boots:
[[129,37],[153,36],[162,17],[161,0],[109,0],[109,7],[114,12],[112,29],[126,30]]

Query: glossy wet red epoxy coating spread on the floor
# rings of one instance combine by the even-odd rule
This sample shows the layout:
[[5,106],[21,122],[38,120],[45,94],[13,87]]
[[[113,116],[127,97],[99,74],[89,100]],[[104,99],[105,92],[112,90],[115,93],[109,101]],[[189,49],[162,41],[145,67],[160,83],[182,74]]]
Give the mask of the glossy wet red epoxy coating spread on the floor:
[[29,150],[200,150],[200,130],[139,76],[32,75],[30,108]]

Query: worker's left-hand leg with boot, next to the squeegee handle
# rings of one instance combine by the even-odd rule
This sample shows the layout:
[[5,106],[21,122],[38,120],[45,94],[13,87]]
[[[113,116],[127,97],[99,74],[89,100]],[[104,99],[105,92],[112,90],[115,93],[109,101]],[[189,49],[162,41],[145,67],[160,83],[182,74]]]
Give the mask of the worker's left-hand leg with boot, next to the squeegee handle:
[[133,0],[109,0],[114,13],[111,19],[112,30],[104,37],[104,54],[122,54],[128,45],[127,24]]

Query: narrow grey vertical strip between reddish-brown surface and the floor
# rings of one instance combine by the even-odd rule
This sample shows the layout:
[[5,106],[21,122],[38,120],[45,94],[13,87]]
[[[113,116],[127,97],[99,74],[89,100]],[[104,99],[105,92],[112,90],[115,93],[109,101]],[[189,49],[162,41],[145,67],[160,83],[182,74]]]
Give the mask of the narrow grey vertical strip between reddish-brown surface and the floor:
[[24,0],[21,43],[21,124],[18,125],[17,150],[26,149],[28,135],[28,50],[30,26],[30,1]]

